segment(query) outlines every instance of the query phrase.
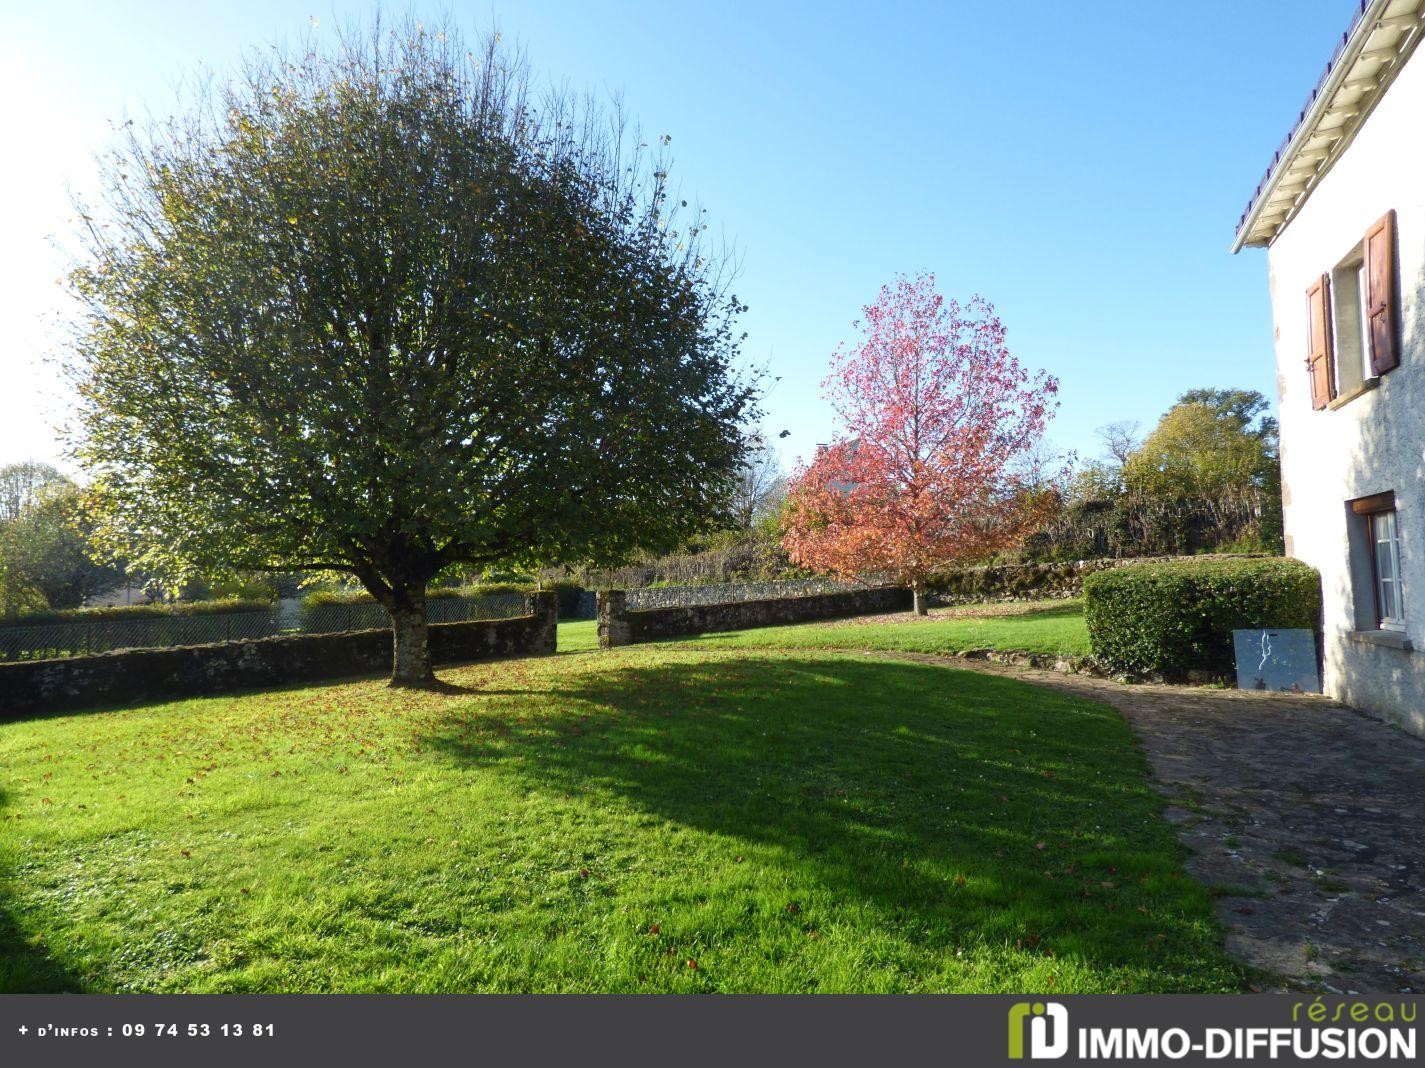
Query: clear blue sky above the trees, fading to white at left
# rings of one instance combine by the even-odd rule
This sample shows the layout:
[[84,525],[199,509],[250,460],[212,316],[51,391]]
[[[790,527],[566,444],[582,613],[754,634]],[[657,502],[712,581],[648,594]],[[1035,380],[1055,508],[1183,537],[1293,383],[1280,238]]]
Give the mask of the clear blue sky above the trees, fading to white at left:
[[[54,279],[91,154],[198,64],[370,3],[26,3],[0,40],[0,463],[54,459],[67,392]],[[388,6],[405,11],[406,4]],[[1233,227],[1345,30],[1351,0],[410,6],[497,26],[536,74],[618,91],[673,137],[684,195],[740,254],[745,355],[781,381],[789,462],[832,426],[826,361],[896,272],[999,309],[1062,379],[1053,443],[1144,429],[1184,389],[1275,399],[1267,268]]]

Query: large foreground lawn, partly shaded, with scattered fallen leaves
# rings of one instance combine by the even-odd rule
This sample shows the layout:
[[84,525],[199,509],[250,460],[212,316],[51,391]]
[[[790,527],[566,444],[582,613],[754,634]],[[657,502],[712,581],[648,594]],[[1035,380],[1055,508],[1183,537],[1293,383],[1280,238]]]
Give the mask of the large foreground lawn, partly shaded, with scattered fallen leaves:
[[688,643],[443,677],[0,724],[0,990],[1240,987],[1104,706]]

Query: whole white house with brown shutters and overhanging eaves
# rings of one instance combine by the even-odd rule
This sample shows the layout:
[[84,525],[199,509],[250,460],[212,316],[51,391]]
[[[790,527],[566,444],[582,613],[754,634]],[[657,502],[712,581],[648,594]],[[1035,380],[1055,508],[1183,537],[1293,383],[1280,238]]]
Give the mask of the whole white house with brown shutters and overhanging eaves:
[[1237,225],[1267,248],[1287,553],[1330,694],[1425,733],[1425,0],[1365,0]]

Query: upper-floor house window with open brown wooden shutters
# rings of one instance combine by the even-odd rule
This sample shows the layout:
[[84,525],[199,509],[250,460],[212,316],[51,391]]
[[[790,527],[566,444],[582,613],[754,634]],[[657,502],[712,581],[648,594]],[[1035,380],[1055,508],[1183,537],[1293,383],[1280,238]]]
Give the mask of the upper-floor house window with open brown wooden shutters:
[[1395,291],[1395,212],[1389,211],[1307,288],[1312,408],[1351,396],[1399,365]]

